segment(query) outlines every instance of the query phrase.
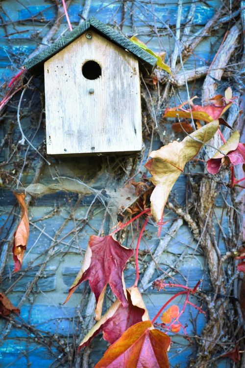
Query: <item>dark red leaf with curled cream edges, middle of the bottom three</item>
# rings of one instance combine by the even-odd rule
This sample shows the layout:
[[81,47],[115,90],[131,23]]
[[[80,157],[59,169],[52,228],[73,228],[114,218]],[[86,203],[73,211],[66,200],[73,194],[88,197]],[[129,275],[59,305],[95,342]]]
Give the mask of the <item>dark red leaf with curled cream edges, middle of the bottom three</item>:
[[118,299],[112,304],[110,309],[80,342],[78,352],[84,346],[89,345],[90,341],[101,331],[104,340],[113,344],[129,327],[149,319],[146,306],[137,287],[127,289],[127,300],[127,307],[123,307]]

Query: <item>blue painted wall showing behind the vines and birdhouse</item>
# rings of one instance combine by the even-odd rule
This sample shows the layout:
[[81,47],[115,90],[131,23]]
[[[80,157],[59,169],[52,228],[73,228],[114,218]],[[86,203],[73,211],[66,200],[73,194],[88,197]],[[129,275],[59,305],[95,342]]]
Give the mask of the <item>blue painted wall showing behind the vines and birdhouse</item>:
[[[123,5],[124,4],[124,5]],[[167,51],[166,62],[168,63],[169,53],[172,51],[172,40],[164,36],[166,31],[165,22],[173,26],[176,23],[177,1],[158,0],[153,1],[154,14],[150,1],[97,1],[93,0],[89,16],[94,15],[99,20],[116,28],[120,28],[123,21],[123,33],[132,36],[138,33],[143,41],[149,41],[149,46],[157,51]],[[184,24],[190,10],[191,1],[184,1],[181,25]],[[195,24],[196,29],[207,23],[220,6],[219,0],[208,0],[197,2]],[[21,66],[25,58],[35,50],[40,39],[46,34],[51,22],[56,14],[54,1],[44,0],[3,0],[1,8],[2,26],[0,28],[0,73],[3,82],[17,73],[17,66]],[[69,8],[69,16],[75,26],[80,20],[83,10],[83,1],[73,0]],[[161,37],[155,36],[153,28],[157,26]],[[65,18],[55,34],[55,38],[69,31]],[[186,63],[186,68],[209,64],[220,45],[220,37],[223,30],[219,29],[215,35],[202,42],[195,52],[195,56],[190,57]],[[160,41],[159,41],[160,40]],[[216,42],[216,41],[219,42]],[[211,47],[212,45],[212,47]],[[21,60],[21,62],[20,62]],[[16,64],[18,61],[18,64]],[[35,83],[43,90],[42,76],[35,79]],[[190,86],[192,87],[192,86]],[[196,93],[200,96],[199,84],[196,86]],[[179,91],[181,99],[185,100],[185,91]],[[193,92],[194,94],[194,92]],[[20,98],[20,95],[17,96]],[[27,113],[31,109],[31,115]],[[37,95],[27,91],[23,101],[22,125],[29,137],[32,137],[38,124],[41,111],[41,102]],[[30,110],[28,110],[30,111]],[[25,114],[26,112],[26,114]],[[16,104],[10,103],[6,113],[11,116],[14,124],[14,142],[20,139],[20,133],[16,123]],[[1,138],[8,131],[9,126],[1,126]],[[169,127],[166,127],[168,131]],[[42,122],[33,144],[39,147],[45,136],[45,123]],[[169,133],[170,139],[174,138],[172,131]],[[178,137],[178,135],[176,136]],[[175,138],[176,138],[175,137]],[[149,147],[150,142],[146,141]],[[158,148],[161,142],[155,137],[153,148]],[[147,150],[146,150],[147,151]],[[8,161],[9,153],[7,147],[1,152],[2,160]],[[25,151],[22,152],[22,157]],[[21,182],[26,188],[32,183],[35,169],[42,162],[37,155],[29,157],[32,165],[25,168]],[[143,164],[147,157],[143,157]],[[121,177],[123,175],[120,165],[126,162],[127,167],[133,167],[133,158],[62,158],[49,159],[51,165],[45,165],[39,183],[46,187],[47,194],[40,197],[35,196],[29,206],[30,236],[25,253],[23,269],[13,273],[13,260],[11,247],[9,246],[8,261],[4,268],[1,288],[14,305],[18,305],[25,291],[28,290],[33,278],[40,272],[40,278],[34,285],[31,293],[25,299],[21,314],[15,318],[15,322],[10,324],[7,320],[0,321],[0,367],[35,367],[54,368],[71,367],[69,362],[63,362],[65,349],[68,343],[76,344],[76,337],[83,329],[83,320],[86,317],[86,295],[88,287],[82,284],[74,293],[71,300],[62,305],[68,292],[69,286],[80,269],[82,255],[87,247],[89,236],[98,234],[101,224],[105,234],[110,230],[110,216],[104,217],[105,206],[108,196],[117,198],[120,192]],[[34,165],[33,165],[34,164]],[[13,175],[15,168],[13,167]],[[196,165],[189,170],[201,170]],[[121,175],[121,177],[120,177]],[[181,176],[174,185],[171,199],[180,205],[186,201],[187,179]],[[21,186],[20,186],[21,188]],[[44,189],[41,188],[42,194]],[[226,199],[229,201],[229,198]],[[1,236],[4,244],[11,241],[16,223],[19,220],[18,207],[12,194],[11,188],[0,190],[1,206]],[[217,215],[222,211],[222,193],[217,199]],[[112,215],[113,210],[112,210]],[[166,209],[165,219],[174,217]],[[225,221],[225,214],[224,214]],[[154,252],[159,241],[168,234],[171,226],[163,226],[160,239],[157,237],[157,226],[154,223],[147,225],[147,233],[141,245],[140,265],[146,267],[151,260],[149,251]],[[224,231],[228,229],[224,228]],[[131,230],[126,233],[124,246],[135,248],[136,239],[132,238]],[[221,253],[225,253],[222,241],[219,243]],[[177,260],[181,256],[180,261]],[[202,280],[202,290],[207,293],[212,292],[210,280],[206,271],[205,260],[202,251],[197,247],[188,226],[183,225],[176,236],[169,243],[166,251],[162,255],[159,264],[160,269],[152,277],[153,281],[157,277],[168,272],[178,283],[195,286],[198,280]],[[178,268],[178,272],[176,271]],[[129,264],[125,270],[126,285],[131,285],[134,280],[134,264]],[[172,280],[172,279],[171,279]],[[175,290],[174,290],[175,291]],[[144,292],[144,300],[147,305],[150,317],[153,317],[161,306],[173,295],[174,291],[167,288],[165,291],[156,292],[149,286]],[[82,295],[82,303],[81,303]],[[110,303],[110,291],[107,294],[107,304]],[[192,299],[196,300],[195,297]],[[183,303],[183,298],[178,302]],[[196,300],[198,304],[198,300]],[[187,324],[187,333],[191,336],[200,334],[205,325],[206,317],[197,314],[196,310],[187,309],[183,316],[182,323]],[[169,352],[171,367],[185,368],[188,362],[195,359],[196,346],[191,345],[183,338],[183,333],[172,337],[174,343]],[[94,349],[91,353],[92,365],[102,356],[107,344],[101,336],[93,341]],[[67,352],[66,352],[67,353]],[[228,367],[225,359],[220,360],[219,367]]]

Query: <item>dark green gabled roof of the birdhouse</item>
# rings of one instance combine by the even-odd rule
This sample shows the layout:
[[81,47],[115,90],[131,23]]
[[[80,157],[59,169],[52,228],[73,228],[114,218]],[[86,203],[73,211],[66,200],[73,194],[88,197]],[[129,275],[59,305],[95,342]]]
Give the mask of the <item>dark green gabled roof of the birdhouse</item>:
[[133,42],[123,36],[121,32],[115,31],[113,28],[100,22],[97,18],[91,17],[89,20],[74,28],[71,32],[67,32],[65,36],[59,38],[51,46],[47,47],[47,49],[26,61],[24,64],[25,68],[31,73],[42,72],[45,61],[47,61],[50,57],[53,57],[89,29],[95,30],[112,43],[115,43],[125,51],[128,51],[137,57],[142,65],[143,70],[145,69],[150,73],[156,65],[156,57],[150,55],[145,50],[135,45]]

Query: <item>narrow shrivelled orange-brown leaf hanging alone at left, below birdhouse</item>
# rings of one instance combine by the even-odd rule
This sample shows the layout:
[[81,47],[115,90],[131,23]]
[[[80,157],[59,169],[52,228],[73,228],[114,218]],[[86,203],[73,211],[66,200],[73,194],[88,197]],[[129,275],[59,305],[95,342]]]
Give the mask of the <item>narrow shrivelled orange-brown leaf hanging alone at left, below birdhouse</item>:
[[21,222],[17,226],[14,233],[14,244],[13,244],[13,258],[15,262],[14,272],[20,271],[22,266],[22,261],[24,257],[24,251],[26,250],[26,244],[29,237],[29,221],[28,221],[28,211],[25,205],[25,194],[19,194],[13,192],[21,206]]

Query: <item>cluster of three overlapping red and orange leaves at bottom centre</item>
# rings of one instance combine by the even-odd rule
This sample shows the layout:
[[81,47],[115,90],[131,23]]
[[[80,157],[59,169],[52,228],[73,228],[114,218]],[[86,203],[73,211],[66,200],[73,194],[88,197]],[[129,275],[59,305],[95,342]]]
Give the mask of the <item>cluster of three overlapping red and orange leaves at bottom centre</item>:
[[[170,338],[154,329],[146,306],[137,288],[125,289],[123,270],[133,251],[123,247],[112,235],[92,235],[79,271],[66,301],[75,288],[89,280],[96,297],[96,320],[91,331],[80,342],[78,351],[90,343],[99,333],[110,344],[98,367],[138,367],[138,362],[147,362],[147,367],[169,367],[167,349]],[[117,297],[110,309],[102,316],[102,304],[107,284]],[[148,351],[152,351],[149,359]]]

